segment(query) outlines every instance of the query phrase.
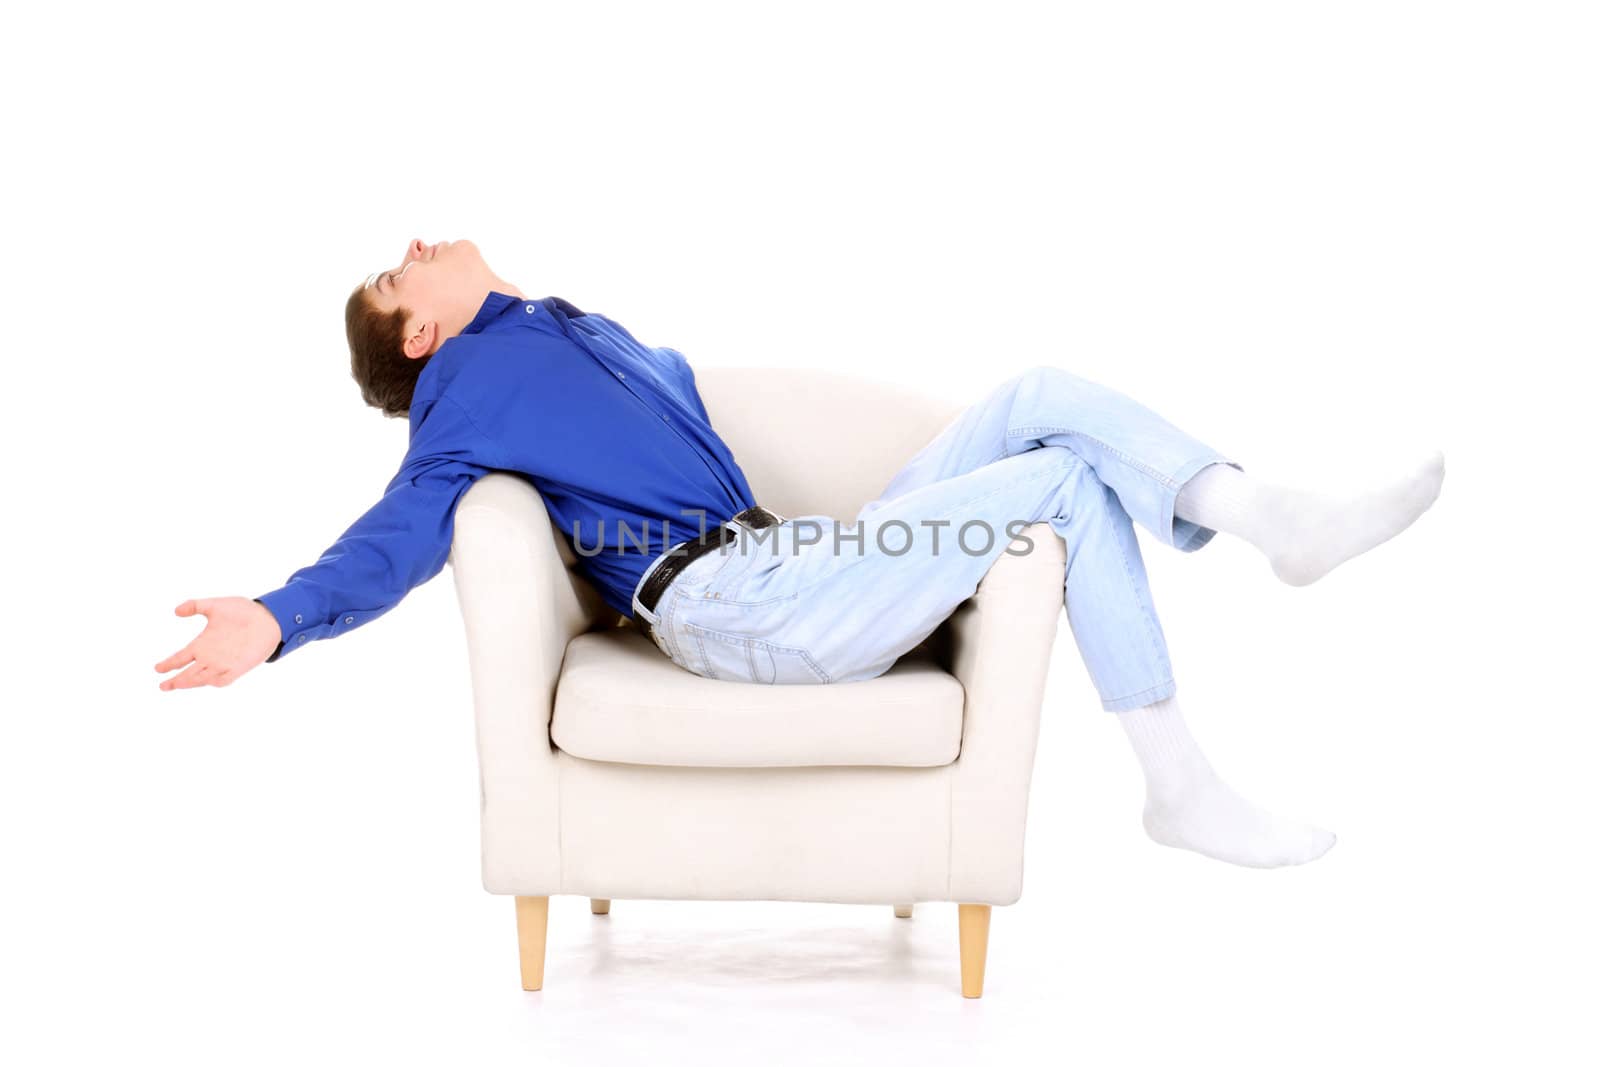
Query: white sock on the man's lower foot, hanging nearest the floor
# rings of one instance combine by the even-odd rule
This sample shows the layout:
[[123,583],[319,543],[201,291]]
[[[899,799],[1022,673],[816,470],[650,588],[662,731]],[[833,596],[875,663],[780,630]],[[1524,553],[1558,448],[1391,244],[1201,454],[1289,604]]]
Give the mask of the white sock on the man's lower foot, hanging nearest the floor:
[[1338,840],[1229,789],[1189,736],[1176,696],[1114,713],[1144,768],[1144,832],[1152,840],[1242,867],[1304,864]]

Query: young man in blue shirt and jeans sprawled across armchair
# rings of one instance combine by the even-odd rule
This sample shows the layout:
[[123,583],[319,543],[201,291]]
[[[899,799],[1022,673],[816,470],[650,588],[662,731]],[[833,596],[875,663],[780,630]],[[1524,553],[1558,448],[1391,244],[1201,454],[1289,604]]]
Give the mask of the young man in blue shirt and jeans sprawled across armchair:
[[1304,585],[1427,510],[1443,454],[1355,496],[1262,483],[1130,397],[1035,368],[965,410],[854,523],[784,520],[758,506],[680,352],[523,296],[470,242],[413,240],[350,294],[346,328],[363,398],[410,416],[398,474],[282,587],[181,603],[206,627],[157,664],[184,669],[163,689],[226,686],[394,608],[443,569],[456,502],[490,470],[531,478],[581,569],[666,656],[741,681],[888,670],[1048,522],[1074,638],[1144,769],[1149,835],[1251,867],[1333,846],[1238,797],[1189,736],[1134,523],[1179,552],[1243,537]]

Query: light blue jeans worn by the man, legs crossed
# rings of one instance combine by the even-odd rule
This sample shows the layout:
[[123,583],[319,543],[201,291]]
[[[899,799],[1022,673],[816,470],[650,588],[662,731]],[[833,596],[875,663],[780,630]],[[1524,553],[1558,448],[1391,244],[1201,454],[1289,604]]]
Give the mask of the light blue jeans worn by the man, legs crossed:
[[1243,470],[1114,389],[1034,368],[966,408],[853,523],[739,526],[653,613],[635,589],[634,611],[706,678],[859,681],[928,637],[1003,552],[1026,550],[1013,549],[1022,526],[1048,522],[1066,541],[1067,622],[1102,707],[1142,707],[1178,686],[1133,525],[1179,552],[1203,547],[1216,531],[1174,504],[1214,462]]

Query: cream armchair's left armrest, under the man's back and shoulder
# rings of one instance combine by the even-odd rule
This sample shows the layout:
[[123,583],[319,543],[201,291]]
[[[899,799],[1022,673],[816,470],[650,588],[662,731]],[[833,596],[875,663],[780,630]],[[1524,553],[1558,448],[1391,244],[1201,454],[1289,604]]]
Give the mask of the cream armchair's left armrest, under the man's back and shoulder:
[[618,619],[574,558],[520,475],[486,474],[456,506],[450,561],[472,670],[490,893],[560,891],[555,683],[566,643]]

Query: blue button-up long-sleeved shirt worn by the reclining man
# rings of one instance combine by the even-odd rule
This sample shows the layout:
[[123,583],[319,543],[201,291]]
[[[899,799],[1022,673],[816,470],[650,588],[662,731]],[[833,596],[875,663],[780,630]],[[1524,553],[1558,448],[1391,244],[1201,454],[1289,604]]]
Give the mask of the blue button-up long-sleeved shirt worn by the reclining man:
[[429,357],[408,418],[382,499],[256,598],[283,637],[267,662],[376,619],[438,574],[456,504],[490,470],[531,480],[579,569],[624,614],[664,549],[755,504],[683,354],[558,296],[490,293]]

